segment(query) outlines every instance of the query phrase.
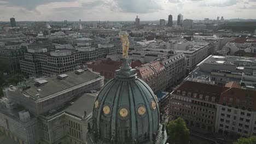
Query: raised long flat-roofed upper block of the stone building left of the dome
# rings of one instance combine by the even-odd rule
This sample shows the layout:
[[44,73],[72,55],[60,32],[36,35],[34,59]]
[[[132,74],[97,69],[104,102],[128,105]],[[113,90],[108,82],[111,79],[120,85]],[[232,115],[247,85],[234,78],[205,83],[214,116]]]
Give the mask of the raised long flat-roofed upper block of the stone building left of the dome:
[[34,79],[4,89],[6,97],[40,115],[79,95],[100,89],[104,77],[90,70],[77,70],[46,79]]

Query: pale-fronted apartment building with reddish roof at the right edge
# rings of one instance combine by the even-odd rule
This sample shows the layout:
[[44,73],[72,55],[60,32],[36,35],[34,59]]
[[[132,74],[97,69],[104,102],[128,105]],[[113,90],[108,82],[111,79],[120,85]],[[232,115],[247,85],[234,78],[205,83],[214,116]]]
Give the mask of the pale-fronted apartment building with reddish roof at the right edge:
[[232,86],[220,95],[216,131],[237,139],[256,136],[256,92]]

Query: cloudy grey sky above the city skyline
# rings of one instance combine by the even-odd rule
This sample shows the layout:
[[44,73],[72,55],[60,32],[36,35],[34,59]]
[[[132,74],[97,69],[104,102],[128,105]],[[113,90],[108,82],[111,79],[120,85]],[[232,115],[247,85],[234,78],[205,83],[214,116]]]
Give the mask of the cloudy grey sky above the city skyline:
[[0,21],[256,19],[256,0],[0,0]]

